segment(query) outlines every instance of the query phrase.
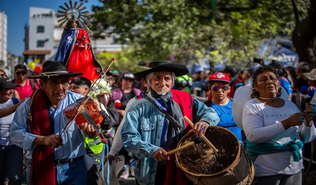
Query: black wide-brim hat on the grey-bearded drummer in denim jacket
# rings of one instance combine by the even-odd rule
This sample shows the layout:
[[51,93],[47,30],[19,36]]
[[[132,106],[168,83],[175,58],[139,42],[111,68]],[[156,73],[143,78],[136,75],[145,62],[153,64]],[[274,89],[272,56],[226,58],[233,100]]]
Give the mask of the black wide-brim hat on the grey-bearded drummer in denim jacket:
[[176,76],[183,76],[189,73],[189,70],[185,67],[185,65],[179,63],[172,63],[167,60],[159,60],[149,63],[149,67],[147,70],[134,73],[134,76],[138,78],[146,78],[146,75],[152,72],[160,72],[160,71],[170,71],[173,72]]

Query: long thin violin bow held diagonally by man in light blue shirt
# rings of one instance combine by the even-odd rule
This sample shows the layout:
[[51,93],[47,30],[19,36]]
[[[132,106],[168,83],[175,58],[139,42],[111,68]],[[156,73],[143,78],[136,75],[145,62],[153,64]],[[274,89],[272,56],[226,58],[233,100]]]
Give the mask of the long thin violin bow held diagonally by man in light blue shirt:
[[[100,75],[98,76],[97,79],[100,78],[100,76],[101,76],[101,74],[102,74],[103,72],[104,72],[104,74],[102,75],[102,78],[104,77],[104,75],[106,74],[106,72],[110,69],[111,65],[113,64],[114,60],[115,60],[115,58],[112,58],[112,59],[106,64],[106,66],[104,67],[103,71],[101,71],[101,73],[100,73]],[[112,62],[111,62],[111,61],[112,61]],[[100,82],[100,81],[99,81],[99,82]],[[99,84],[99,82],[98,82],[97,84]],[[94,84],[95,84],[95,83],[94,83]],[[90,87],[88,93],[91,92],[91,89],[92,89],[92,87],[94,86],[94,84]],[[84,96],[83,100],[87,97],[88,93],[86,94],[86,96]],[[92,92],[90,93],[89,96],[91,96],[91,94],[92,94]],[[81,101],[80,104],[79,104],[79,106],[78,106],[77,109],[75,110],[75,112],[78,110],[78,108],[80,107],[80,105],[82,105],[82,103],[83,103],[83,106],[84,106],[84,105],[86,104],[86,102],[87,102],[87,101],[85,101],[85,102]],[[65,125],[65,127],[63,128],[63,130],[62,130],[62,132],[61,132],[61,138],[64,137],[64,135],[66,134],[66,132],[67,132],[68,129],[70,128],[70,125],[72,124],[71,121],[74,120],[79,114],[80,114],[80,112],[77,111],[76,115],[73,114],[73,115],[70,117],[68,123]],[[75,116],[74,116],[74,115],[75,115]]]

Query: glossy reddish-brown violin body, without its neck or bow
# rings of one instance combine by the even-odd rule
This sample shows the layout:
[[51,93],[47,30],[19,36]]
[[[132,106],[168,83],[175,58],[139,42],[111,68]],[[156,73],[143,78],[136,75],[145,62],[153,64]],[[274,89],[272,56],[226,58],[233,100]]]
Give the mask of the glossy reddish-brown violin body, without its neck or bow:
[[103,117],[101,113],[96,109],[96,105],[94,104],[93,100],[88,99],[84,105],[81,105],[81,107],[77,109],[77,107],[81,103],[81,100],[83,100],[83,98],[78,99],[76,103],[70,104],[64,109],[64,114],[66,115],[66,117],[70,119],[72,115],[79,112],[78,116],[75,119],[75,122],[80,130],[82,130],[81,124],[85,122],[88,122],[90,125],[93,126],[94,124],[100,124],[103,121]]

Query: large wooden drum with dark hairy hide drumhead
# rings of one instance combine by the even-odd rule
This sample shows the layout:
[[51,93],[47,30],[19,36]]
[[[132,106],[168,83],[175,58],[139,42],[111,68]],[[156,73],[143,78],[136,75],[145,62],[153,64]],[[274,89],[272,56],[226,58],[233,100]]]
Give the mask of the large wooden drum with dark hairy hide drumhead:
[[[186,134],[179,142],[183,146],[196,137]],[[251,157],[237,137],[226,128],[210,126],[205,137],[215,146],[215,154],[204,141],[176,152],[176,163],[185,176],[198,185],[250,185],[254,177]]]

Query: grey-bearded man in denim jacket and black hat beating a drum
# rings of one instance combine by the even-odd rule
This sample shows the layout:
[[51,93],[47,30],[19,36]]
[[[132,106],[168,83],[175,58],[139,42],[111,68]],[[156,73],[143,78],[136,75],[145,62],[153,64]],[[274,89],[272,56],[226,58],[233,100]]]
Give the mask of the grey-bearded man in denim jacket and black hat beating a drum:
[[[146,78],[150,92],[131,104],[121,136],[126,151],[138,160],[134,173],[140,185],[191,184],[176,167],[175,155],[169,156],[167,151],[175,149],[188,131],[201,136],[219,122],[213,108],[188,92],[171,89],[175,77],[188,72],[182,64],[155,61],[149,63],[149,69],[134,74]],[[183,116],[195,122],[193,129]]]

